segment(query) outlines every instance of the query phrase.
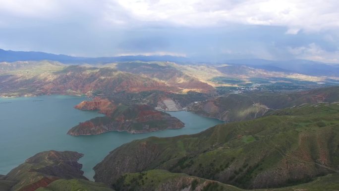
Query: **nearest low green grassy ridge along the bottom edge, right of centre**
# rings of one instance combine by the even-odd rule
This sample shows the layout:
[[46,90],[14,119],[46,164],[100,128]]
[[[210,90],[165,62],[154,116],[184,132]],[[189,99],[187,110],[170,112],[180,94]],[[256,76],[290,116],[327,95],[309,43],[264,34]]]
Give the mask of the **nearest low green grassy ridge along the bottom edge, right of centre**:
[[[267,189],[243,190],[217,181],[202,179],[165,170],[127,173],[113,185],[116,191],[268,191]],[[339,174],[317,177],[309,183],[270,189],[270,191],[337,191]]]

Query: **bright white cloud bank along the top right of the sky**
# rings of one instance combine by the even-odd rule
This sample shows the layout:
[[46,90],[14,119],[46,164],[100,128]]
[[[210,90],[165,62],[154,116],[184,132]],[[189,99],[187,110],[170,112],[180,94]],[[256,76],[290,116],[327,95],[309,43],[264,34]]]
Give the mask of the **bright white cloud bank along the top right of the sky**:
[[339,27],[336,0],[117,0],[141,22],[180,26],[215,26],[227,23],[273,25],[319,31]]

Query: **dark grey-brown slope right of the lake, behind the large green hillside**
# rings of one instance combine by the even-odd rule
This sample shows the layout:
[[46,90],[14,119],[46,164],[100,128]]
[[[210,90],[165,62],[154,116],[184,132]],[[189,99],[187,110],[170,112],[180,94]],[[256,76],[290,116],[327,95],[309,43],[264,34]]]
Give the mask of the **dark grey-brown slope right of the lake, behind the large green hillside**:
[[264,116],[267,112],[303,103],[339,101],[339,87],[319,88],[293,93],[247,92],[228,94],[190,104],[189,111],[226,122],[237,122]]

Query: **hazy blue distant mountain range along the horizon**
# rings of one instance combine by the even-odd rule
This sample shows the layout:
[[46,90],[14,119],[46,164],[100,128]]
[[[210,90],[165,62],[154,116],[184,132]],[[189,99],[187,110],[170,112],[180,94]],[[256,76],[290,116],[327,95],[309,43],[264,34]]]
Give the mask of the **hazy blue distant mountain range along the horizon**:
[[[67,55],[56,55],[44,52],[24,52],[24,51],[5,51],[0,49],[0,62],[16,62],[16,61],[58,61],[64,64],[107,64],[113,62],[129,62],[129,61],[169,61],[178,64],[193,64],[195,59],[175,56],[119,56],[119,57],[72,57]],[[208,62],[205,64],[209,64]],[[225,60],[218,64],[238,64],[249,67],[264,69],[268,71],[280,71],[301,73],[313,76],[339,76],[339,64],[326,64],[308,60],[290,60],[290,61],[270,61],[263,59],[243,59],[243,60]]]

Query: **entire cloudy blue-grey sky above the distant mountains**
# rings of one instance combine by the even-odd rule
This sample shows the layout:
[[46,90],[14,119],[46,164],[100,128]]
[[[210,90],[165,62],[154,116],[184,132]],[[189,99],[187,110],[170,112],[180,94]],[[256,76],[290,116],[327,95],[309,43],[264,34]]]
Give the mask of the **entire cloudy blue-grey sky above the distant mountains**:
[[338,0],[0,0],[0,48],[339,63]]

